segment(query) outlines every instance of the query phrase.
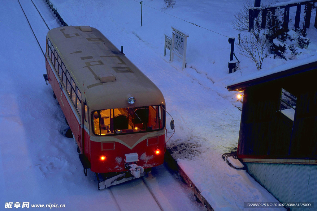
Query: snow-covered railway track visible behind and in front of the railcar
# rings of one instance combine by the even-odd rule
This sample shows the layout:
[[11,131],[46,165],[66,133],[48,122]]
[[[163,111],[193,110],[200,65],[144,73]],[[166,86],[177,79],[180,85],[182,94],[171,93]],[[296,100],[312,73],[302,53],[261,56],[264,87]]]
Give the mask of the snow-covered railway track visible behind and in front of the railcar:
[[[61,27],[61,22],[42,0],[16,1],[45,58],[46,33],[52,28]],[[44,63],[44,59],[42,62]],[[112,203],[118,210],[139,210],[144,206],[150,206],[151,210],[174,210],[181,209],[184,205],[190,205],[191,210],[204,210],[203,205],[195,202],[189,187],[182,184],[164,165],[153,168],[152,173],[145,177],[109,187],[105,191],[112,196]]]

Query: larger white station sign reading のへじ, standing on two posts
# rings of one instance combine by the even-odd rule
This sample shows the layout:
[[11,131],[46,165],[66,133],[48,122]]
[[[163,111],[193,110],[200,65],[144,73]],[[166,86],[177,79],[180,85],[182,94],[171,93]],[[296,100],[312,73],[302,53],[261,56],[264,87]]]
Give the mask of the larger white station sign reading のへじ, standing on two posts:
[[187,38],[189,35],[176,27],[172,26],[173,38],[172,38],[172,49],[171,49],[171,61],[174,60],[174,54],[180,59],[183,59],[182,70],[186,67],[186,46]]

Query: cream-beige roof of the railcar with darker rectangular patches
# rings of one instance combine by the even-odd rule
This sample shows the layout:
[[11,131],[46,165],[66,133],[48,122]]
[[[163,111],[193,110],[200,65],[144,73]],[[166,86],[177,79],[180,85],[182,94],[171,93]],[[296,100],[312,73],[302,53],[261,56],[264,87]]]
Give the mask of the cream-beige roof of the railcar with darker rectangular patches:
[[[82,99],[94,110],[165,104],[159,88],[98,29],[66,26],[47,38],[72,75]],[[133,96],[133,106],[127,99]]]

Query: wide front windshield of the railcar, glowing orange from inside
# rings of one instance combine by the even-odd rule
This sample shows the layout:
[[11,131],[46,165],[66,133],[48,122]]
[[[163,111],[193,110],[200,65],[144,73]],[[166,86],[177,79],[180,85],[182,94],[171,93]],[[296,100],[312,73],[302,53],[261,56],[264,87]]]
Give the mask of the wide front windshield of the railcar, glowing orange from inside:
[[97,110],[92,121],[96,135],[150,132],[165,127],[165,111],[161,105]]

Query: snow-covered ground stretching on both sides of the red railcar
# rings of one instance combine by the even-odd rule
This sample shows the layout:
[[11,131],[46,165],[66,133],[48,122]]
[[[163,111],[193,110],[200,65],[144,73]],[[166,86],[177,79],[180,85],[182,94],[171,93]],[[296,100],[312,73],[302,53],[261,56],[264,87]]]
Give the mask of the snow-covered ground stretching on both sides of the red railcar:
[[[19,4],[4,2],[0,13],[0,206],[20,200],[61,203],[82,210],[105,209],[107,200],[113,200],[113,196],[109,190],[95,190],[91,172],[90,177],[83,176],[73,141],[60,134],[63,115],[42,78],[45,73],[42,52]],[[27,5],[29,1],[20,2]],[[38,8],[44,8],[42,0],[33,2]],[[240,68],[228,74],[228,37],[237,37],[239,33],[232,28],[231,21],[244,0],[176,0],[173,9],[162,9],[163,0],[144,0],[142,27],[139,1],[51,2],[68,25],[90,25],[98,28],[119,49],[124,46],[126,56],[160,88],[166,109],[176,125],[176,133],[168,146],[212,208],[243,210],[243,202],[276,201],[245,170],[233,169],[221,158],[223,153],[237,146],[241,112],[236,107],[242,106],[236,93],[228,92],[226,86],[245,80],[250,74],[267,74],[271,69],[300,64],[304,59],[317,60],[315,10],[311,28],[307,30],[312,43],[305,52],[288,61],[271,56],[264,60],[261,71],[256,70],[251,60],[236,53]],[[272,1],[262,0],[262,3],[269,2]],[[44,15],[51,16],[49,12]],[[36,16],[36,11],[29,16]],[[43,23],[38,24],[42,24],[38,33],[42,34],[39,41],[44,49],[48,29]],[[56,21],[49,25],[57,27]],[[184,70],[177,57],[172,63],[168,56],[163,57],[164,34],[171,35],[171,26],[189,34]],[[179,210],[176,206],[179,201],[169,199],[175,194],[174,186],[170,187],[159,171],[152,176],[156,180],[163,178],[165,192],[162,190],[160,194],[162,199],[166,198],[163,209]],[[132,184],[135,183],[138,181]],[[195,203],[187,198],[181,207],[192,210]],[[142,195],[136,203],[142,203],[141,199]],[[106,209],[118,207],[113,205]]]

